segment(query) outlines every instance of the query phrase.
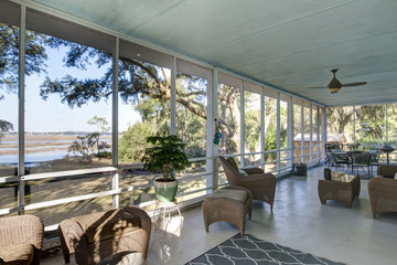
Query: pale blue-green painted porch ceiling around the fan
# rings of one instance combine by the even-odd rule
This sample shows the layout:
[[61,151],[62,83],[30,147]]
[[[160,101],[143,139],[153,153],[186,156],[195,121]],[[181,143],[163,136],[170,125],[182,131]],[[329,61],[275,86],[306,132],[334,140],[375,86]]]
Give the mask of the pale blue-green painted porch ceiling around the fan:
[[[397,102],[395,0],[35,0],[326,106]],[[340,68],[344,87],[326,86]]]

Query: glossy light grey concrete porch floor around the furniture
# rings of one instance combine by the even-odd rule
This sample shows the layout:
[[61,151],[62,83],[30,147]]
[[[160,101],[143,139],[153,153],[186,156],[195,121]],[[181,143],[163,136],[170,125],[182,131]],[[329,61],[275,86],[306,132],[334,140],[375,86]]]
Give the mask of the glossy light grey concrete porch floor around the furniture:
[[[273,213],[268,204],[255,202],[246,233],[335,262],[396,265],[397,213],[379,214],[373,220],[368,180],[361,181],[360,199],[352,209],[336,201],[322,205],[318,197],[322,174],[323,168],[318,167],[309,170],[308,177],[278,181]],[[172,220],[165,235],[161,230],[152,231],[146,264],[185,264],[239,232],[233,224],[218,222],[205,233],[201,208],[182,215],[183,220]],[[42,264],[64,264],[62,254],[44,257]]]

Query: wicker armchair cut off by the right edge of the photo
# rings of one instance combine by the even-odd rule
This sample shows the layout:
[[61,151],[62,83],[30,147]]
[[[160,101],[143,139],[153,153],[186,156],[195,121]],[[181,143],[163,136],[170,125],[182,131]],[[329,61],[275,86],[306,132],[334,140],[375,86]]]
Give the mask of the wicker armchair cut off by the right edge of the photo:
[[368,181],[371,211],[377,213],[397,212],[397,180],[376,177]]

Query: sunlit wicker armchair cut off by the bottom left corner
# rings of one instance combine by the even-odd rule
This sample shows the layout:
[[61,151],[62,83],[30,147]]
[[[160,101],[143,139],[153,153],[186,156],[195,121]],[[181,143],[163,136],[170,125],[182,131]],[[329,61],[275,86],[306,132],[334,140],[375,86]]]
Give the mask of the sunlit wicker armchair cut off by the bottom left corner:
[[0,219],[0,264],[40,264],[44,225],[40,218]]

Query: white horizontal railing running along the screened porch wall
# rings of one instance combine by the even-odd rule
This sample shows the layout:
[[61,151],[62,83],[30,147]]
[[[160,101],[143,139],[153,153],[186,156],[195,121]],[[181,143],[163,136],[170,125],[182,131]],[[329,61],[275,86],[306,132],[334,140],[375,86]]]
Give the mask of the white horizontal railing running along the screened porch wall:
[[[293,150],[291,148],[289,149],[282,149],[282,151],[288,151],[288,150]],[[270,151],[266,151],[265,153],[272,153],[272,152],[277,152],[277,150],[270,150]],[[260,155],[261,152],[255,152],[255,155]],[[245,153],[245,156],[249,156],[253,153]],[[320,152],[318,153],[312,153],[312,155],[316,155],[319,158],[309,162],[318,162],[321,158]],[[225,157],[238,157],[240,155],[225,155]],[[307,156],[296,156],[293,157],[293,159],[297,158],[301,158],[301,157],[307,157]],[[208,159],[217,159],[217,157],[202,157],[202,158],[193,158],[190,159],[190,162],[197,162],[197,161],[205,161]],[[285,158],[285,159],[279,159],[279,160],[275,160],[275,161],[268,161],[265,163],[258,163],[258,165],[249,165],[247,167],[256,167],[256,166],[266,166],[266,165],[277,165],[279,162],[282,161],[291,161],[292,162],[292,158]],[[291,163],[292,165],[292,163]],[[283,172],[282,174],[286,174],[289,172],[289,170],[291,170],[291,165],[287,165],[286,167],[282,168],[278,168],[271,171],[267,171],[269,173],[280,173],[281,171],[287,171]],[[64,178],[68,178],[68,177],[77,177],[77,176],[89,176],[90,178],[95,178],[95,177],[103,177],[104,173],[109,173],[108,177],[109,178],[119,178],[119,171],[120,170],[126,170],[126,169],[132,169],[136,167],[139,167],[142,165],[122,165],[120,167],[105,167],[105,168],[92,168],[92,169],[79,169],[79,170],[68,170],[68,171],[58,171],[58,172],[45,172],[45,173],[33,173],[33,174],[26,174],[26,176],[9,176],[9,177],[0,177],[0,183],[15,183],[17,184],[22,184],[22,187],[25,184],[25,181],[33,181],[33,180],[45,180],[45,179],[64,179]],[[194,179],[198,179],[202,177],[212,177],[214,173],[223,173],[224,171],[219,171],[217,172],[217,170],[215,170],[215,172],[187,172],[186,176],[183,176],[181,178],[178,178],[178,180],[180,181],[184,181],[184,180],[194,180]],[[149,187],[152,187],[153,183],[152,181],[150,181],[149,183],[144,183],[144,184],[140,184],[140,186],[129,186],[129,187],[124,187],[124,188],[119,188],[118,187],[118,181],[111,181],[111,189],[109,190],[105,190],[105,191],[100,191],[100,192],[93,192],[93,193],[87,193],[87,194],[81,194],[81,195],[74,195],[74,197],[67,197],[67,198],[62,198],[62,199],[55,199],[55,200],[47,200],[47,201],[43,201],[43,202],[35,202],[35,203],[29,203],[29,204],[21,204],[21,205],[15,205],[15,206],[10,206],[10,208],[3,208],[0,209],[0,215],[6,215],[6,214],[10,214],[10,213],[23,213],[24,211],[29,211],[29,210],[37,210],[37,209],[43,209],[43,208],[51,208],[51,206],[56,206],[56,205],[62,205],[65,203],[71,203],[71,202],[78,202],[78,201],[85,201],[85,200],[89,200],[89,199],[95,199],[95,198],[100,198],[100,197],[107,197],[107,195],[112,195],[114,200],[119,200],[119,195],[125,193],[125,192],[133,192],[136,190],[141,190],[141,189],[146,189]],[[194,193],[198,193],[198,192],[210,192],[213,189],[216,189],[218,186],[223,186],[219,183],[216,183],[214,186],[211,187],[204,187],[204,188],[198,188],[196,190],[191,190],[191,191],[186,191],[186,192],[182,192],[179,193],[176,197],[178,198],[183,198],[186,195],[191,195]],[[65,187],[65,189],[67,189]],[[24,197],[24,192],[21,191],[21,189],[18,189],[18,197],[22,197],[21,199],[19,199],[18,201],[25,201]],[[182,201],[184,204],[189,204],[189,201]],[[138,204],[138,206],[150,206],[151,204],[154,204],[155,200],[150,200],[150,201],[146,201],[146,202],[141,202],[140,204]],[[119,205],[119,202],[116,202],[112,204],[114,208],[117,208]],[[57,224],[53,224],[53,225],[47,225],[45,226],[45,230],[52,230],[52,229],[56,229]]]

